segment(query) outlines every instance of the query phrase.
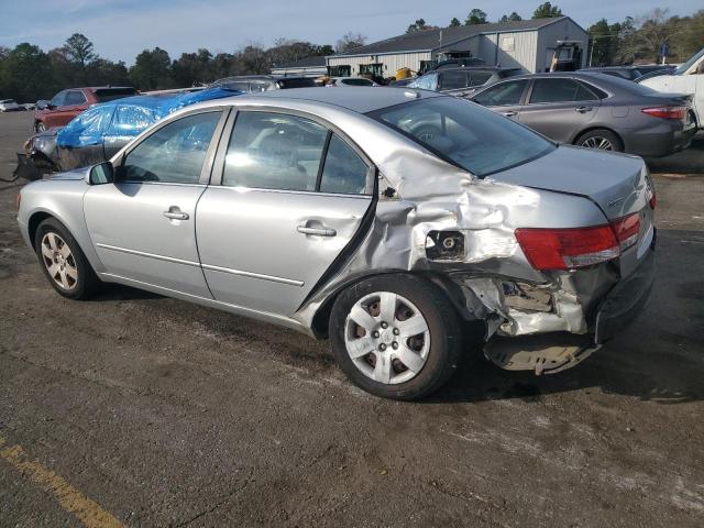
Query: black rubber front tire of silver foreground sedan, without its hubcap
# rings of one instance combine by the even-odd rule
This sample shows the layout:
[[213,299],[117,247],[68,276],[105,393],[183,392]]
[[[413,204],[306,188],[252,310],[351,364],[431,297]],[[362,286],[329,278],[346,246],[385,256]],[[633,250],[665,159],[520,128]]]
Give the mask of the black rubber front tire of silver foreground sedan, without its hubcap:
[[[76,287],[70,292],[59,288],[52,277],[50,277],[46,266],[44,265],[41,243],[44,235],[48,232],[55,232],[58,234],[64,242],[68,244],[74,255],[78,278],[76,279]],[[55,218],[47,218],[36,228],[36,233],[34,235],[34,251],[40,261],[42,272],[44,272],[44,276],[61,296],[66,297],[67,299],[84,300],[89,299],[100,289],[102,282],[96,275],[96,272],[88,262],[88,258],[86,258],[80,245],[78,245],[78,242],[76,242],[76,239],[74,239],[68,229],[66,229],[66,227]]]

